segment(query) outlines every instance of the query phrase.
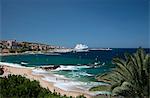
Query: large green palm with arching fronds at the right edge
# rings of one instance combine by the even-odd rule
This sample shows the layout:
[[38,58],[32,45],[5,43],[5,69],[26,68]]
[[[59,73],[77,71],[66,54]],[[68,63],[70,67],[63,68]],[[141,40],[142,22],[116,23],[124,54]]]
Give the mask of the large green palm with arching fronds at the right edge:
[[114,58],[113,63],[116,67],[111,72],[96,77],[111,84],[113,96],[149,97],[150,54],[139,48],[133,55],[126,53],[125,59]]

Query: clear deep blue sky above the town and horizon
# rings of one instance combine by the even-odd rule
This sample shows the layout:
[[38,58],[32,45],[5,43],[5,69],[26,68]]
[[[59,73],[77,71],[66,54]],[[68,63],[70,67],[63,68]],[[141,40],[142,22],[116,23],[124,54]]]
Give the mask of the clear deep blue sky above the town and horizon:
[[149,0],[0,0],[2,40],[150,47]]

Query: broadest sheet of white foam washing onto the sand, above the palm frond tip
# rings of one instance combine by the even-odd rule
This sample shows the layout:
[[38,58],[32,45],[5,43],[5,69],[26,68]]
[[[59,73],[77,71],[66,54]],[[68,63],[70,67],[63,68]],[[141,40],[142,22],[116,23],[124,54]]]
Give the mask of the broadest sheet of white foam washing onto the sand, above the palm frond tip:
[[73,81],[66,78],[63,78],[59,75],[54,76],[44,76],[42,78],[45,81],[54,83],[55,87],[63,89],[65,91],[75,91],[75,90],[84,90],[88,91],[91,87],[97,85],[107,85],[101,82],[81,82],[81,81]]

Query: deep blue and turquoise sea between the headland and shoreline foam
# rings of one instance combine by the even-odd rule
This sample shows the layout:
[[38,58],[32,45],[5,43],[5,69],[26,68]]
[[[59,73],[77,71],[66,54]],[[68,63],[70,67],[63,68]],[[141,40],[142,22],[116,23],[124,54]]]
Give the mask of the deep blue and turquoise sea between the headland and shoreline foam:
[[[73,80],[96,81],[95,76],[97,74],[108,72],[115,67],[111,62],[112,58],[123,57],[125,52],[134,53],[136,49],[113,49],[112,51],[89,51],[81,53],[71,52],[60,55],[26,54],[2,56],[0,60],[1,62],[15,64],[24,62],[27,67],[60,65],[60,70],[53,71],[53,73],[64,75]],[[95,62],[100,62],[100,66],[97,68],[86,66]]]

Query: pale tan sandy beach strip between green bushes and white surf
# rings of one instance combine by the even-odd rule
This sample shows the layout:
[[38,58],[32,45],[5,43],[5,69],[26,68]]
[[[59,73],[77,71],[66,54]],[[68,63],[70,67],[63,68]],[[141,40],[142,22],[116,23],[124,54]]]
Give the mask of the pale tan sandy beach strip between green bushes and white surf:
[[[86,98],[96,98],[96,96],[91,95],[89,92],[83,91],[82,89],[80,90],[80,89],[74,88],[74,91],[67,91],[67,90],[60,89],[60,88],[54,86],[54,83],[44,80],[43,75],[35,74],[35,73],[33,74],[33,70],[35,69],[33,67],[22,67],[22,66],[16,66],[16,65],[12,66],[7,63],[3,63],[0,65],[2,65],[4,67],[5,72],[4,72],[3,76],[7,76],[8,74],[14,74],[14,75],[24,76],[30,80],[37,80],[37,81],[39,81],[39,83],[42,87],[48,88],[52,92],[55,91],[57,93],[60,93],[61,95],[67,95],[67,96],[73,96],[73,97],[76,97],[79,95],[84,95],[84,96],[86,96]],[[62,80],[62,77],[56,77],[56,76],[54,77],[53,74],[52,74],[52,77],[56,78],[56,81]],[[67,79],[66,80],[64,79],[64,82],[67,82]],[[107,95],[106,96],[101,95],[101,97],[107,98]]]

